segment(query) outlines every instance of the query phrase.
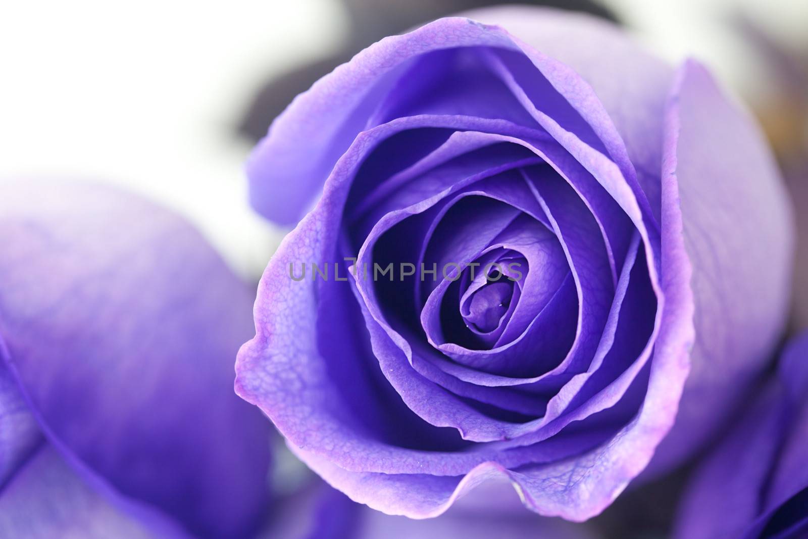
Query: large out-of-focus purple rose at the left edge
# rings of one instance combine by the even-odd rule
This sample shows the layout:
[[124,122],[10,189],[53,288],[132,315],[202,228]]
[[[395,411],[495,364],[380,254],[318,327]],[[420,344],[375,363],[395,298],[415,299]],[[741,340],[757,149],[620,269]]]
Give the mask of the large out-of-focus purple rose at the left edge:
[[0,183],[0,238],[0,535],[250,533],[269,431],[231,385],[249,289],[179,217],[91,183]]

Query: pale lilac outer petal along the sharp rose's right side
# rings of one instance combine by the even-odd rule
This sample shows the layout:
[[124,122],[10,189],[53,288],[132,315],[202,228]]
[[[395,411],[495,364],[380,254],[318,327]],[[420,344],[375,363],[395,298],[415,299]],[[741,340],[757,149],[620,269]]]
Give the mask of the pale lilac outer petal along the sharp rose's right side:
[[666,117],[665,152],[693,266],[696,343],[675,427],[652,470],[718,432],[771,359],[793,253],[791,208],[760,130],[695,61],[680,69]]

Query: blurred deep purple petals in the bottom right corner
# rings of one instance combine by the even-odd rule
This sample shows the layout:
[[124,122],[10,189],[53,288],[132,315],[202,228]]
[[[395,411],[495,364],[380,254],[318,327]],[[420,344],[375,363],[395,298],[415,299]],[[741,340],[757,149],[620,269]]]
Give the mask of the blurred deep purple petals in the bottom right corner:
[[675,537],[806,537],[808,335],[789,344],[779,374],[696,470]]

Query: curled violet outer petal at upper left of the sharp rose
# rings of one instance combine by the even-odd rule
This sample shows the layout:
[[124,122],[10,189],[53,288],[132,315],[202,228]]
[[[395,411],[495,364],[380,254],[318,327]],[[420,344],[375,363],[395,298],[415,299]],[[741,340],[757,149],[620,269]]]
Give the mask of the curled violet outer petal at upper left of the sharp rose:
[[412,57],[450,47],[513,47],[502,33],[460,19],[443,19],[416,32],[415,38],[393,36],[366,48],[276,118],[247,163],[250,202],[259,213],[294,224],[314,205],[335,163]]

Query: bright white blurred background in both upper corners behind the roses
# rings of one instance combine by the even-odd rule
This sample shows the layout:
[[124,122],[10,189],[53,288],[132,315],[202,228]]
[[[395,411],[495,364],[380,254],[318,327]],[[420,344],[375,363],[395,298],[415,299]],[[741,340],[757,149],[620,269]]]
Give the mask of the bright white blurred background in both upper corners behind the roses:
[[[808,48],[808,2],[611,0],[640,39],[695,55],[754,99],[743,10]],[[283,234],[246,204],[249,145],[234,125],[261,82],[347,39],[337,0],[0,3],[0,178],[109,181],[186,215],[250,279]]]

